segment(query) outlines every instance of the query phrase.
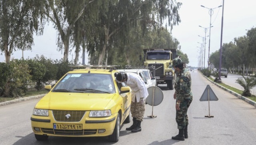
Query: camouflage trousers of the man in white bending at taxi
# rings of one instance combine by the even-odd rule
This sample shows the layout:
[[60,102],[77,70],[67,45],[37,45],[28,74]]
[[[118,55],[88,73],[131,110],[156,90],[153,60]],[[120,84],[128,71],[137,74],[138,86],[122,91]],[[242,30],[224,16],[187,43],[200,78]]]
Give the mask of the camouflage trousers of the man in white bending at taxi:
[[132,117],[137,118],[136,120],[143,121],[143,117],[145,113],[145,103],[142,105],[142,103],[137,102],[136,99],[135,99],[135,102],[132,101],[131,113],[132,113]]

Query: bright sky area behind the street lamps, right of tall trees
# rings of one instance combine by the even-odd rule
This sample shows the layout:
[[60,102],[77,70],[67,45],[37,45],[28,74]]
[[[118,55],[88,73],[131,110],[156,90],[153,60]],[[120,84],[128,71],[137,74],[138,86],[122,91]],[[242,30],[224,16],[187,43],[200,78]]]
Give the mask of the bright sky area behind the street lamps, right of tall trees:
[[[202,37],[206,32],[206,54],[203,67],[208,67],[209,54],[209,32],[210,13],[212,8],[211,32],[210,32],[210,54],[220,50],[222,0],[177,0],[182,2],[179,10],[181,22],[174,26],[172,36],[180,42],[181,51],[188,55],[188,66],[199,67]],[[207,8],[204,8],[207,7]],[[224,0],[222,44],[234,42],[234,38],[246,36],[247,30],[256,26],[256,1],[254,0]],[[202,26],[204,28],[201,28]],[[199,35],[199,36],[198,36]],[[200,37],[202,36],[202,37]],[[198,43],[199,42],[199,43]],[[204,48],[203,48],[204,50]],[[203,53],[204,54],[204,53]],[[203,59],[204,60],[204,59]]]

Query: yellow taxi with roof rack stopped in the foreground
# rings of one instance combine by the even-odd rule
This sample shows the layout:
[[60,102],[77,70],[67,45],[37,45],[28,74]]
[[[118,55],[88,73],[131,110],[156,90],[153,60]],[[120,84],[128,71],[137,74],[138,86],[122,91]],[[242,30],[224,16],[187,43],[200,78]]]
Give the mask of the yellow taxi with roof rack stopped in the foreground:
[[116,66],[71,66],[38,101],[30,118],[37,140],[48,136],[103,137],[119,140],[120,126],[131,121],[130,87],[115,79]]

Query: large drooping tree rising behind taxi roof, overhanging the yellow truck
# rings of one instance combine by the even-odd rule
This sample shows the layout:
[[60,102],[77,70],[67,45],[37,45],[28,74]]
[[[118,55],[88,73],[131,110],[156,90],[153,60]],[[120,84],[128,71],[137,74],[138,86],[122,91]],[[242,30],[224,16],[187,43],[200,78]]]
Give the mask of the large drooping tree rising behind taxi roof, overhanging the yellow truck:
[[[168,19],[168,25],[176,25],[180,22],[178,9],[181,3],[174,0],[102,0],[99,9],[98,27],[96,33],[96,51],[100,52],[98,64],[103,64],[108,52],[108,45],[112,45],[111,37],[121,39],[126,43],[126,36],[134,27],[141,27],[143,34],[148,28],[159,28],[163,20]],[[95,45],[90,45],[95,46]],[[97,47],[100,46],[100,47]],[[90,48],[92,50],[94,48]]]

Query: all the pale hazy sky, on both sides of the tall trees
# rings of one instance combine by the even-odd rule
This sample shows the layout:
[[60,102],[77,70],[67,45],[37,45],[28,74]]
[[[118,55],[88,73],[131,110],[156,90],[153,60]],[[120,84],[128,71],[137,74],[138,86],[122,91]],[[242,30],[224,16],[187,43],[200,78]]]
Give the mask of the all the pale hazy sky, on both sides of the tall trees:
[[[206,37],[205,57],[203,53],[203,67],[207,68],[207,60],[209,54],[209,38],[210,38],[210,54],[220,49],[222,7],[216,8],[223,4],[222,0],[176,0],[182,2],[179,14],[181,22],[178,26],[174,26],[172,30],[173,38],[180,42],[181,51],[188,55],[189,64],[187,66],[200,67],[200,59],[202,58],[201,44],[202,37]],[[206,8],[203,8],[202,6]],[[223,34],[222,44],[233,42],[234,38],[246,35],[247,30],[256,26],[256,1],[254,0],[225,0],[223,13]],[[212,8],[211,31],[209,9]],[[208,28],[204,32],[204,28]],[[199,35],[199,36],[198,36]],[[201,37],[200,37],[201,36]],[[58,52],[57,32],[52,24],[45,26],[42,36],[34,36],[34,46],[32,50],[23,52],[24,59],[34,58],[36,55],[44,55],[46,58],[60,60],[63,58],[63,52]],[[200,44],[201,43],[201,44]],[[204,47],[204,46],[203,46]],[[72,56],[73,55],[73,56]],[[14,52],[11,58],[22,58],[22,51]],[[68,60],[75,58],[74,51],[69,54]],[[0,55],[0,62],[5,62],[4,55]],[[82,52],[78,62],[82,64]],[[88,64],[88,56],[85,58],[85,64]]]

